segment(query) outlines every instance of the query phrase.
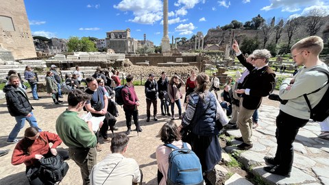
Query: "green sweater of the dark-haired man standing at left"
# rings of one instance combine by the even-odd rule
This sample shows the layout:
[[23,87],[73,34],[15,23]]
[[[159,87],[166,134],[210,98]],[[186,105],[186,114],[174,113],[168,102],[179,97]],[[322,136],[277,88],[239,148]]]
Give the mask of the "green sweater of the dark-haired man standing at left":
[[86,121],[77,116],[77,112],[65,110],[56,121],[58,136],[68,147],[92,148],[96,146],[95,134],[90,132]]

